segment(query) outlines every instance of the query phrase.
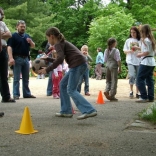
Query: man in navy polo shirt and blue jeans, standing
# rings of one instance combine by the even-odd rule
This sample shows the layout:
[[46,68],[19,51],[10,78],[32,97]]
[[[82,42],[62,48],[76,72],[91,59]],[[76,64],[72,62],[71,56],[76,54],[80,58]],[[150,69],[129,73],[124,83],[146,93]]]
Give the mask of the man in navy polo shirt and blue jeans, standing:
[[23,98],[36,98],[31,95],[29,89],[29,52],[35,47],[29,34],[25,33],[26,23],[22,20],[17,22],[17,32],[8,40],[9,64],[13,65],[14,81],[13,96],[18,100],[20,97],[20,73],[22,74]]

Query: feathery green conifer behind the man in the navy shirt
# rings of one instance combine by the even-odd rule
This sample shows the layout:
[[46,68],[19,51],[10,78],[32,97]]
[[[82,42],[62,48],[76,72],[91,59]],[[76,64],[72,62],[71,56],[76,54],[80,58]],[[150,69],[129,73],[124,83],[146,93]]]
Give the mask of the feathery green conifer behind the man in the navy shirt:
[[[34,3],[32,3],[34,2]],[[34,9],[32,8],[34,7]],[[42,49],[42,42],[46,40],[45,31],[53,23],[54,14],[49,14],[49,6],[43,2],[37,2],[37,0],[31,0],[16,7],[10,7],[5,9],[7,23],[11,32],[16,31],[16,23],[18,20],[24,20],[26,22],[27,30],[34,40],[36,47],[32,55],[36,57],[37,51]]]

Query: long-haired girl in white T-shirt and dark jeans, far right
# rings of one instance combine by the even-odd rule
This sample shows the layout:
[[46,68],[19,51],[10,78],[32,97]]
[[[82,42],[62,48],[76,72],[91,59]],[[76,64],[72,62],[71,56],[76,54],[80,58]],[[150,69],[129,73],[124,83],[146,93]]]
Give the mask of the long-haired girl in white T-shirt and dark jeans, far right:
[[[141,58],[137,76],[137,87],[141,93],[141,98],[136,102],[153,102],[154,101],[154,80],[153,70],[156,65],[154,53],[156,42],[152,35],[151,28],[148,24],[141,27],[141,49],[134,46],[133,48],[141,50],[137,54]],[[147,89],[146,89],[147,85]]]

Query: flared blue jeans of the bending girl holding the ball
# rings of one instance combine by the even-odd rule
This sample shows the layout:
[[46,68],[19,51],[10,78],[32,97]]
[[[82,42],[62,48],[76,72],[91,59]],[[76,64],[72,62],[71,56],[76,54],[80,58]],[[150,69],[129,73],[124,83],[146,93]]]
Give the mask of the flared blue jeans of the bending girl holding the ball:
[[77,108],[82,114],[92,113],[95,108],[77,91],[80,77],[87,69],[87,64],[84,63],[74,68],[70,68],[69,72],[64,75],[60,82],[60,100],[61,111],[63,114],[72,114],[72,105],[70,97],[73,99]]

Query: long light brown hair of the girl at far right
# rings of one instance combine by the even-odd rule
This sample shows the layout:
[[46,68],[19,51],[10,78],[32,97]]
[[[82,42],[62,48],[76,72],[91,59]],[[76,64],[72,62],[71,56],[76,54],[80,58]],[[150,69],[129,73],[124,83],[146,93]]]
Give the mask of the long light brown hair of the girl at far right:
[[152,42],[152,49],[155,50],[156,49],[156,41],[155,41],[155,38],[152,34],[150,26],[148,24],[141,26],[140,32],[141,32],[141,37],[143,39],[143,43],[144,43],[144,39],[146,37],[148,37]]

